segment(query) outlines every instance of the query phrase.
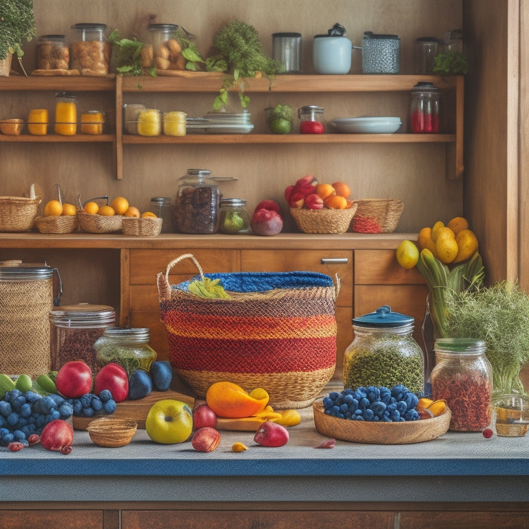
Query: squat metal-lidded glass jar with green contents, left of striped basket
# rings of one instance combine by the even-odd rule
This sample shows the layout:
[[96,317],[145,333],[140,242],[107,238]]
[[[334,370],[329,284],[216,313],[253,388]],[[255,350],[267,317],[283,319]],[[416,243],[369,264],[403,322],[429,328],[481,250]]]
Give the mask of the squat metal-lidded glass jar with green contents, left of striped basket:
[[115,362],[132,375],[136,369],[149,371],[156,360],[156,351],[149,346],[147,328],[107,327],[103,336],[94,343],[97,368]]

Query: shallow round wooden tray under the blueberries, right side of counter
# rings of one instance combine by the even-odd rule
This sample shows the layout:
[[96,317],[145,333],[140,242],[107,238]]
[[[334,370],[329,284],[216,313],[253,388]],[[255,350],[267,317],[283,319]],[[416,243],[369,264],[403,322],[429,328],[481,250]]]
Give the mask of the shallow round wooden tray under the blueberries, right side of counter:
[[432,441],[448,431],[452,413],[406,422],[364,422],[326,415],[322,402],[313,404],[316,430],[327,437],[366,444],[412,444]]

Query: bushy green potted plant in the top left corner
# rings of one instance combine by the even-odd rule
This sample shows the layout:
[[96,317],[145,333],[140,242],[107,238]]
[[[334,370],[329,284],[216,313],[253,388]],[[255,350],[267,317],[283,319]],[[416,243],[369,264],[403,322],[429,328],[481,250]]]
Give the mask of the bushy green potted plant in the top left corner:
[[23,43],[37,37],[33,0],[2,0],[0,2],[0,75],[8,76],[12,55],[22,65]]

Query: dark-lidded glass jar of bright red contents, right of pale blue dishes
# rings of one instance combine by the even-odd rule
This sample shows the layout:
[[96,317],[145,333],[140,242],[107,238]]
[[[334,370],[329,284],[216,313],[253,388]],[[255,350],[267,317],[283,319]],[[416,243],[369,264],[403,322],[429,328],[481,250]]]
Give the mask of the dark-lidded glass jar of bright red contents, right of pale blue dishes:
[[419,81],[411,91],[410,131],[420,134],[439,132],[441,92],[430,81]]

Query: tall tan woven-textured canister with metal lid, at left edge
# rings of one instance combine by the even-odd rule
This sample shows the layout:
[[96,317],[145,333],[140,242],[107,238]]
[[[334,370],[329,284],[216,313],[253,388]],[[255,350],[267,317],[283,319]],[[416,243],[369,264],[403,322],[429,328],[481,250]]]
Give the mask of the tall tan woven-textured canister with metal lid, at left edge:
[[[54,277],[59,279],[54,295]],[[59,304],[57,269],[19,260],[0,262],[0,373],[35,378],[51,368],[50,320]]]

